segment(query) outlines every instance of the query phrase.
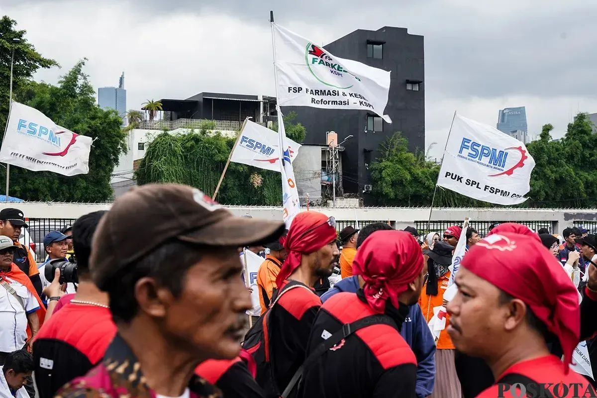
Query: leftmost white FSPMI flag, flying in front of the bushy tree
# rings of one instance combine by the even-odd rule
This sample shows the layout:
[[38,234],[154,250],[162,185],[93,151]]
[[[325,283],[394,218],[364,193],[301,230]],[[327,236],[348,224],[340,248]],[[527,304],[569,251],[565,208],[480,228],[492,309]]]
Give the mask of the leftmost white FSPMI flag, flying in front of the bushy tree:
[[87,174],[92,141],[56,125],[39,110],[13,101],[0,162],[33,171]]

